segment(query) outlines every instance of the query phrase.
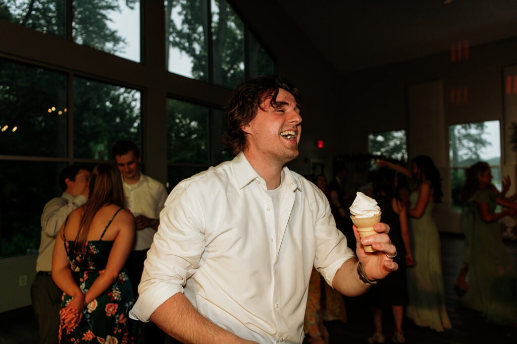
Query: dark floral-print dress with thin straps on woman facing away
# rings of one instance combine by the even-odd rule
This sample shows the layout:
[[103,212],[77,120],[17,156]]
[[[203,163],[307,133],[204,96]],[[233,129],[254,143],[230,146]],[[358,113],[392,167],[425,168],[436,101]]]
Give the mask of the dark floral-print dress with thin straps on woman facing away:
[[[120,210],[120,209],[119,209]],[[99,240],[88,241],[86,254],[73,252],[73,241],[63,238],[75,283],[86,292],[97,277],[104,272],[108,263],[113,241],[103,241],[102,237],[118,211],[102,232]],[[66,222],[65,222],[66,227]],[[64,235],[63,235],[64,237]],[[72,298],[63,293],[61,308]],[[73,329],[59,326],[59,343],[133,343],[133,331],[128,313],[134,303],[133,290],[126,269],[120,271],[113,285],[95,300],[86,305],[83,319]]]

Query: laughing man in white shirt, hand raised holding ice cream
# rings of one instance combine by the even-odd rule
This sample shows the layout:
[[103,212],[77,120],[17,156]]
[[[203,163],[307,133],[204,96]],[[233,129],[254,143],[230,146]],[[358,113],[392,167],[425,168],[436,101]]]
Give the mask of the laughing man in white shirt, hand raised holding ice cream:
[[[278,77],[238,86],[226,107],[229,162],[181,181],[160,213],[133,319],[192,343],[301,343],[314,267],[346,295],[397,269],[376,225],[358,263],[325,195],[285,164],[298,156],[298,90]],[[356,232],[356,238],[359,238]]]

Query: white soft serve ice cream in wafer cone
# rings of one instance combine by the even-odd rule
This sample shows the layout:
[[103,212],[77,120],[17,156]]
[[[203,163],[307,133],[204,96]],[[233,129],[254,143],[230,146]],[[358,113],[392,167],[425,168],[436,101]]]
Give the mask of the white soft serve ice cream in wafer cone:
[[[357,192],[356,198],[350,207],[350,217],[357,227],[361,238],[375,234],[373,226],[381,222],[381,208],[377,206],[377,201],[362,192]],[[374,252],[371,245],[363,246],[364,251]]]

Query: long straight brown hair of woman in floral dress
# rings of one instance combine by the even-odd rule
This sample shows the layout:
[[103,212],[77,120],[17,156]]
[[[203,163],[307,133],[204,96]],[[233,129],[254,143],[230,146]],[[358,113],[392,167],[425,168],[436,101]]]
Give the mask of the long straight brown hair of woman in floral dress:
[[79,231],[75,236],[73,251],[77,254],[86,252],[86,237],[95,214],[105,204],[115,204],[124,208],[124,189],[120,173],[113,164],[102,163],[94,168],[90,178],[89,198],[82,206],[83,214],[79,222]]

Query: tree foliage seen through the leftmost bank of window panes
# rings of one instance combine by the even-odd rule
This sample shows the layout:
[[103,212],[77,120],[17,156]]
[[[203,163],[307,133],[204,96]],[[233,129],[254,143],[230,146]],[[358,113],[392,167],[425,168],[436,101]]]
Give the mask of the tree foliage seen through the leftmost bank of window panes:
[[[126,0],[127,6],[138,3]],[[0,16],[66,38],[65,4],[66,0],[0,0]],[[120,11],[118,0],[72,4],[75,41],[109,53],[124,50],[124,39],[108,25],[111,11]],[[69,87],[74,97],[74,147],[68,147]],[[74,158],[111,159],[118,139],[141,145],[140,107],[138,90],[77,76],[68,85],[65,73],[0,59],[0,119],[2,126],[9,126],[0,133],[0,154],[67,158],[73,149]],[[12,132],[13,126],[18,130]],[[37,250],[39,217],[45,203],[59,195],[55,181],[65,164],[2,160],[0,165],[0,256]]]

